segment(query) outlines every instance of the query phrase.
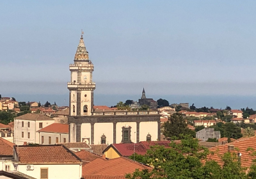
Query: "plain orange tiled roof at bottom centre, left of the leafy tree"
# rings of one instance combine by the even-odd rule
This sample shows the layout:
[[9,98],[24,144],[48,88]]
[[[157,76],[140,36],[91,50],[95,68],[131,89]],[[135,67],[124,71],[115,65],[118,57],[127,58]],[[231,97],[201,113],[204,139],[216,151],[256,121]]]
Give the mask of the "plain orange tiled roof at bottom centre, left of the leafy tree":
[[111,176],[124,176],[126,173],[133,173],[135,169],[151,169],[134,160],[125,157],[116,159],[96,159],[90,164],[83,166],[83,176],[85,175],[111,175]]

